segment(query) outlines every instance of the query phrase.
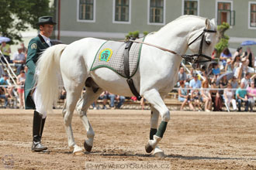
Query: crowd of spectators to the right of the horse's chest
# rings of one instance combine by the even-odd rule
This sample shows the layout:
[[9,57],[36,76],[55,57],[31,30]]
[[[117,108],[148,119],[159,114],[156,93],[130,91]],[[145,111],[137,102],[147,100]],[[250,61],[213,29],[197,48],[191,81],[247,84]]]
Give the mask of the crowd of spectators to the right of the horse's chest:
[[212,58],[213,62],[197,73],[192,69],[186,74],[180,67],[177,86],[181,110],[189,104],[190,110],[202,110],[204,106],[205,111],[222,111],[223,107],[234,111],[248,111],[250,107],[254,111],[256,73],[251,48],[243,52],[238,47],[233,55],[225,48],[220,58],[216,58],[216,53]]

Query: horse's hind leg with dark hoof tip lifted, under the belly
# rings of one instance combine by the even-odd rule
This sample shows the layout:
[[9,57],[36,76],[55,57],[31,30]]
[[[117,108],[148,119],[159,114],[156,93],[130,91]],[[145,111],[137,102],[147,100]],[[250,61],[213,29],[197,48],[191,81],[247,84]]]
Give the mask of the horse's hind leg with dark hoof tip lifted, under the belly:
[[95,101],[99,95],[102,93],[102,89],[98,89],[96,92],[93,91],[92,87],[86,87],[84,96],[78,101],[77,104],[77,111],[81,118],[81,121],[83,122],[85,126],[85,130],[87,132],[87,140],[85,140],[84,147],[86,151],[92,150],[93,145],[93,138],[95,136],[95,133],[92,129],[92,125],[88,121],[88,117],[86,115],[86,112],[93,101]]

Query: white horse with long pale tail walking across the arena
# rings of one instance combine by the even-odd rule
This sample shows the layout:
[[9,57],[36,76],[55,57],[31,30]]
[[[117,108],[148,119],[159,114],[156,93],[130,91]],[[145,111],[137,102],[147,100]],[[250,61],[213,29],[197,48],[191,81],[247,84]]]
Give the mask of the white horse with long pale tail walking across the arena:
[[[95,132],[86,115],[90,104],[103,90],[126,97],[134,96],[126,83],[126,78],[114,71],[105,67],[90,71],[95,54],[104,42],[106,40],[85,38],[70,45],[51,46],[43,52],[36,66],[40,71],[36,77],[37,89],[42,93],[43,104],[47,110],[52,108],[58,95],[57,73],[61,73],[67,90],[67,101],[62,113],[68,145],[73,149],[74,154],[83,153],[83,149],[74,142],[71,128],[75,107],[87,131],[85,150],[91,151]],[[159,31],[147,35],[144,42],[160,46],[161,49],[171,49],[174,52],[168,53],[157,47],[143,44],[137,73],[133,76],[137,91],[151,105],[150,140],[147,141],[146,151],[150,153],[155,149],[155,152],[163,152],[157,144],[163,138],[170,120],[170,112],[163,100],[164,95],[175,86],[182,54],[185,54],[187,49],[195,55],[186,57],[194,57],[196,62],[204,57],[209,58],[216,43],[216,24],[214,19],[184,15],[168,23]],[[86,80],[92,84],[92,87],[87,87],[85,95],[78,101]],[[93,86],[99,89],[95,92]],[[161,124],[157,129],[159,114]],[[135,144],[136,141],[131,142]]]

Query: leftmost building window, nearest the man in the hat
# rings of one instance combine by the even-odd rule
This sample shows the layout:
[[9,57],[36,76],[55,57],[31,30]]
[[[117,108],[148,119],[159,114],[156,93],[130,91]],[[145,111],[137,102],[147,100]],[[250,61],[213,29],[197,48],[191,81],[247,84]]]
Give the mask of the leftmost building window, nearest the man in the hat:
[[94,0],[79,0],[79,19],[94,19]]

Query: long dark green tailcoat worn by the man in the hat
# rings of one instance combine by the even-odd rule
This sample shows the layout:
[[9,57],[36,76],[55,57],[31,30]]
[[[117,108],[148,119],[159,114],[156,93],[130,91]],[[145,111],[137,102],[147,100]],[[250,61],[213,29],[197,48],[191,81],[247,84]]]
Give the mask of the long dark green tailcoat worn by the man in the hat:
[[36,62],[39,59],[40,53],[43,52],[43,49],[47,49],[49,46],[47,42],[44,41],[43,37],[38,35],[35,38],[31,39],[28,46],[28,53],[26,56],[26,66],[28,66],[28,72],[26,73],[25,81],[25,108],[26,109],[36,109],[36,106],[33,102],[31,96],[31,91],[35,84],[34,74],[36,70]]

